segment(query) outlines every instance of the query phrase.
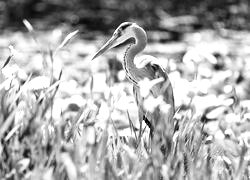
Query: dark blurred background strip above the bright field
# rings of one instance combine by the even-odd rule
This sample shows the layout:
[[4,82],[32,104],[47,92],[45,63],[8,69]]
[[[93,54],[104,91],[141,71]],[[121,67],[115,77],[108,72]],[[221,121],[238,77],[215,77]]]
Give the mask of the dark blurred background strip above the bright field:
[[250,29],[249,3],[248,0],[2,0],[0,27],[18,27],[27,18],[32,23],[44,21],[41,29],[66,23],[106,32],[128,20],[140,22],[148,29],[169,29],[162,26],[163,19],[192,15],[196,19],[182,18],[178,22],[189,23],[195,29]]

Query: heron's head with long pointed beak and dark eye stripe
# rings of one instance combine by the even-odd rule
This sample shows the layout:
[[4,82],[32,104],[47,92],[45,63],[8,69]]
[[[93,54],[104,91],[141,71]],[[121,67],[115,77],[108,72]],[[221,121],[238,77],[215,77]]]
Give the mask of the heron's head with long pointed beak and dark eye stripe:
[[118,26],[113,33],[112,37],[101,47],[101,49],[92,58],[95,59],[109,49],[112,49],[120,44],[123,44],[127,40],[131,40],[134,37],[134,28],[139,27],[136,23],[124,22]]

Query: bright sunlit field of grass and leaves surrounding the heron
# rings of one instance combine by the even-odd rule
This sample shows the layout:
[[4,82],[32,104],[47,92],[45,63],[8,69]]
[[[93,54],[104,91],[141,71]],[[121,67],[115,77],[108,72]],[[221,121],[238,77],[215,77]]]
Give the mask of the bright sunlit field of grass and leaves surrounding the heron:
[[163,158],[158,146],[151,152],[147,128],[136,145],[124,49],[91,62],[107,37],[24,24],[28,33],[1,38],[0,179],[250,178],[250,34],[204,30],[180,42],[151,40],[145,53],[165,60],[177,109]]

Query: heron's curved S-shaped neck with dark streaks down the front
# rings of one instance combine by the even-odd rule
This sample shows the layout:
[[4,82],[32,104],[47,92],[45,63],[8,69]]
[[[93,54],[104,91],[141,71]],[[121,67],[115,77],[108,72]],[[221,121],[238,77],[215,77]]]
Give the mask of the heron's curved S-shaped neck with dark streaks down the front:
[[147,35],[146,32],[140,28],[134,28],[134,37],[135,43],[130,44],[125,52],[123,66],[126,71],[127,77],[133,82],[137,83],[138,80],[136,79],[133,72],[137,72],[137,67],[134,63],[135,56],[140,53],[147,44]]

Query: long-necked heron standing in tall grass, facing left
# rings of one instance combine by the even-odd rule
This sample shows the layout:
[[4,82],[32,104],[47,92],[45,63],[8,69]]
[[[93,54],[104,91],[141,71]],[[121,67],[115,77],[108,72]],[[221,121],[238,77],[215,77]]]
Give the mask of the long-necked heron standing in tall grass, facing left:
[[[173,121],[175,112],[173,89],[168,78],[166,70],[162,67],[159,59],[143,55],[137,56],[147,45],[147,34],[145,30],[133,22],[123,22],[114,31],[112,37],[100,48],[93,56],[96,59],[104,52],[118,45],[126,44],[127,49],[123,57],[123,69],[126,72],[127,79],[133,84],[133,93],[138,106],[139,116],[139,139],[142,135],[142,122],[144,121],[150,129],[150,134],[153,135],[157,121]],[[159,109],[157,112],[150,112],[144,107],[144,101],[147,97],[142,95],[142,86],[140,82],[144,79],[149,81],[156,80],[150,87],[149,95],[154,98],[161,97],[163,101],[169,105],[167,115],[159,117]],[[158,114],[158,116],[156,115]]]

